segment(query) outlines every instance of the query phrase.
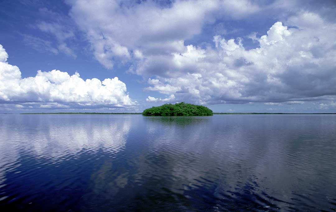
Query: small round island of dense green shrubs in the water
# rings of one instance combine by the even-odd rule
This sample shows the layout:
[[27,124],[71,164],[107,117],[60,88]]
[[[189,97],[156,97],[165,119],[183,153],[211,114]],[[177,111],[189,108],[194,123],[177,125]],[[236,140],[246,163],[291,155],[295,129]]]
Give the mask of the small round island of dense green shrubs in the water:
[[212,110],[207,107],[184,102],[164,104],[145,109],[144,116],[212,116]]

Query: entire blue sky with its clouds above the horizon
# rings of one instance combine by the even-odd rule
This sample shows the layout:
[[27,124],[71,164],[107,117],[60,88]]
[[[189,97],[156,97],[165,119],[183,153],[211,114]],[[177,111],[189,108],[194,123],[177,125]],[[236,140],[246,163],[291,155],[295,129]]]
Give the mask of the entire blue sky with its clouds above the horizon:
[[1,0],[0,113],[336,113],[336,2]]

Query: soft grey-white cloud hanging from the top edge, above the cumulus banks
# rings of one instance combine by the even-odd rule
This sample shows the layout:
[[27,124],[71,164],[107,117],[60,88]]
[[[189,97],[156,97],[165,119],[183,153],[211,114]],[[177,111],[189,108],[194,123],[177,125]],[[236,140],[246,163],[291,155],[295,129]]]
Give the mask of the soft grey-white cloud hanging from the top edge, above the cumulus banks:
[[247,0],[174,1],[166,7],[151,0],[75,0],[69,4],[70,15],[86,34],[95,58],[108,69],[116,60],[130,60],[131,55],[145,59],[181,52],[183,41],[200,34],[203,25],[214,23],[216,17],[239,18],[259,10]]

